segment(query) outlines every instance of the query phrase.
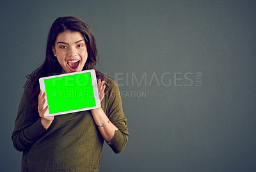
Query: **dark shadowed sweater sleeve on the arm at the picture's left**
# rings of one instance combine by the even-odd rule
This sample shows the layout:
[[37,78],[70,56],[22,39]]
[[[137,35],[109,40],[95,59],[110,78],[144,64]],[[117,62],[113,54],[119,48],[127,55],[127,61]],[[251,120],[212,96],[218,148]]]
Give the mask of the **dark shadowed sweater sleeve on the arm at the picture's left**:
[[16,150],[28,150],[47,132],[41,123],[39,114],[37,118],[35,116],[36,114],[33,114],[32,107],[23,93],[12,133],[13,146]]

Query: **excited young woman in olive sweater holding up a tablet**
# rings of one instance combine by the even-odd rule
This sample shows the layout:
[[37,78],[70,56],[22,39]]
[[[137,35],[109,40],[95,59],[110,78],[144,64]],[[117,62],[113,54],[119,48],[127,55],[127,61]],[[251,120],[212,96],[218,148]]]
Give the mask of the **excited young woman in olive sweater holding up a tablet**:
[[[28,75],[12,134],[13,145],[23,152],[22,171],[99,171],[104,139],[115,153],[124,150],[128,129],[120,92],[95,68],[96,56],[92,31],[83,20],[54,21],[45,61]],[[38,79],[88,69],[96,71],[101,107],[46,117],[46,95]]]

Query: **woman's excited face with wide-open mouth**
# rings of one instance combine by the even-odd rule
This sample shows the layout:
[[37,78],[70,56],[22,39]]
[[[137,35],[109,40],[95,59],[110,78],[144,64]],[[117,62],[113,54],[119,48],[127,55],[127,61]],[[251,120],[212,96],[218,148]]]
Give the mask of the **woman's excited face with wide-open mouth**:
[[80,32],[60,33],[52,47],[53,54],[62,67],[62,74],[83,70],[88,53],[84,37]]

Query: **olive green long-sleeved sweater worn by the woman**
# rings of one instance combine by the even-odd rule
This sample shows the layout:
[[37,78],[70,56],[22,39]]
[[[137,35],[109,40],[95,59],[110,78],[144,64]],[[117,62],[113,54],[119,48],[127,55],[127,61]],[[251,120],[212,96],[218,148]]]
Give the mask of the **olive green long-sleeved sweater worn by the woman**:
[[[101,107],[118,128],[108,145],[120,153],[127,143],[128,129],[118,86],[111,79],[108,84]],[[55,116],[45,130],[23,94],[12,140],[14,147],[23,152],[22,171],[99,171],[104,139],[91,111]]]

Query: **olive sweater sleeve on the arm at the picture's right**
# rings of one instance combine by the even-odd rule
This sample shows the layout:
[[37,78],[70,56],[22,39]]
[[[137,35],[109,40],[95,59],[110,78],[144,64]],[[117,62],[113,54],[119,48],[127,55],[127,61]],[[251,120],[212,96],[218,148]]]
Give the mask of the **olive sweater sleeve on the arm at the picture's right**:
[[109,79],[109,91],[106,94],[108,99],[108,118],[118,128],[108,145],[115,153],[124,150],[128,140],[127,119],[124,116],[120,91],[115,81]]

